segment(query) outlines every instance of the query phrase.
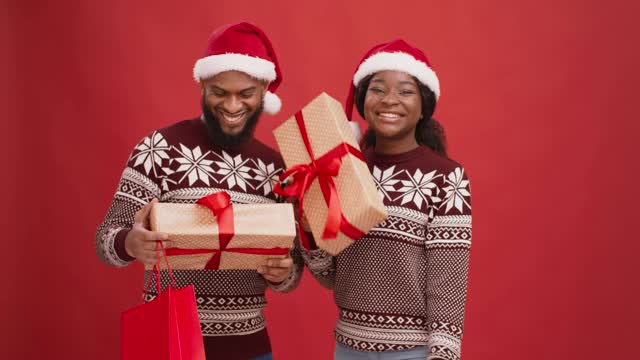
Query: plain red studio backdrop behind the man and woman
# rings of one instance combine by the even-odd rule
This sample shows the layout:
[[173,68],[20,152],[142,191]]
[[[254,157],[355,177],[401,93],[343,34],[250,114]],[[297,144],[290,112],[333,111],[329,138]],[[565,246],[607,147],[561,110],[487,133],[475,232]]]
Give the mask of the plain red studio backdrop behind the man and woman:
[[[198,114],[193,64],[240,20],[284,71],[269,144],[319,92],[344,99],[371,45],[402,36],[430,56],[473,187],[465,359],[637,354],[637,1],[2,4],[1,358],[117,358],[142,268],[99,262],[95,228],[135,143]],[[276,359],[331,358],[329,292],[306,274],[268,297]]]

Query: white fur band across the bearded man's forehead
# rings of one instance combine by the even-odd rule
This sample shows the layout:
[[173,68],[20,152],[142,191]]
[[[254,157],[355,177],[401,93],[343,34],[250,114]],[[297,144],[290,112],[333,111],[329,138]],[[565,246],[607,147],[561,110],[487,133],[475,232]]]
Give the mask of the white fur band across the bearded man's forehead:
[[193,77],[197,82],[224,71],[236,70],[259,80],[276,79],[276,67],[268,60],[242,54],[211,55],[196,61]]

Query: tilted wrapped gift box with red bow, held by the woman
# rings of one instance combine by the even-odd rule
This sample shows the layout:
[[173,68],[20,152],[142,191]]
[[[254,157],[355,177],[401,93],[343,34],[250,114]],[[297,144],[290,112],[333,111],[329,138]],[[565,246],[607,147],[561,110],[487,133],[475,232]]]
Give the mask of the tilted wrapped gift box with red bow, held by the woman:
[[[342,105],[322,93],[273,132],[288,169],[274,190],[299,199],[316,244],[338,254],[387,218]],[[308,249],[309,244],[301,240]]]

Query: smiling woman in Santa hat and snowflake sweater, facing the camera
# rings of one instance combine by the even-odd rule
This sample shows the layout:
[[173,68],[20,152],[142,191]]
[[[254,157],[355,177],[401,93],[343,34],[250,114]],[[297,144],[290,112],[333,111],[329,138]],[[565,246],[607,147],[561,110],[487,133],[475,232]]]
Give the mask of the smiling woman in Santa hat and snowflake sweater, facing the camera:
[[336,359],[459,359],[471,245],[465,171],[431,116],[439,81],[403,40],[371,49],[353,77],[362,140],[389,218],[336,257],[304,252],[334,290]]

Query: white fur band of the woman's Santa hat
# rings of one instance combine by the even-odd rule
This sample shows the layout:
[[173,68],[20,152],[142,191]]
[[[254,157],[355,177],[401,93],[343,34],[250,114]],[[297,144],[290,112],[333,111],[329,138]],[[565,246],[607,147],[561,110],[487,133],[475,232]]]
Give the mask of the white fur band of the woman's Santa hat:
[[353,75],[353,85],[357,87],[365,77],[384,70],[402,71],[411,76],[415,76],[421,83],[433,91],[436,99],[440,97],[440,81],[435,71],[426,63],[403,52],[380,52],[371,55],[360,64],[358,71]]

